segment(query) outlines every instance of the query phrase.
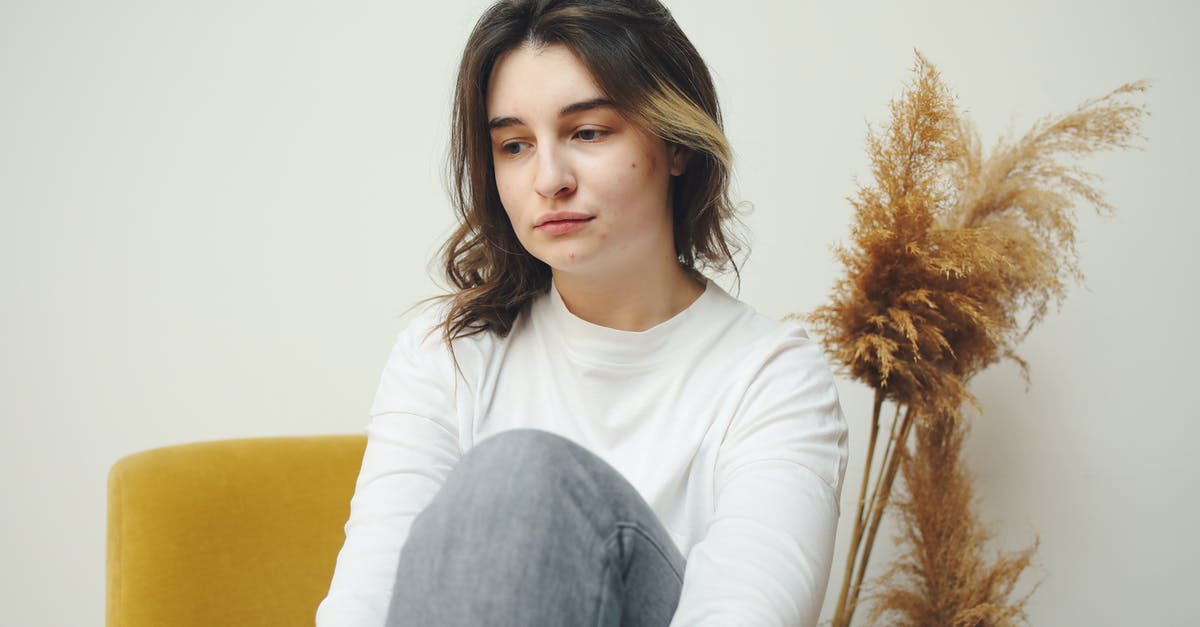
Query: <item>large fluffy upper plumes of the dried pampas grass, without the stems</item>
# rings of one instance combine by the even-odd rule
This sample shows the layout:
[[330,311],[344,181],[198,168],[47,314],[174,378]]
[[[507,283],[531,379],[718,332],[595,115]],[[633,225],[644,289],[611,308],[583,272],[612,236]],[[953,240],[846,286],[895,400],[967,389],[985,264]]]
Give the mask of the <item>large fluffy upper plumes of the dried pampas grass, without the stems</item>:
[[862,187],[846,276],[809,321],[834,359],[922,414],[958,416],[965,382],[1013,348],[1081,279],[1078,201],[1111,208],[1096,175],[1070,161],[1129,148],[1144,108],[1122,85],[1039,121],[983,157],[937,71],[917,54],[914,83],[871,135],[874,186]]

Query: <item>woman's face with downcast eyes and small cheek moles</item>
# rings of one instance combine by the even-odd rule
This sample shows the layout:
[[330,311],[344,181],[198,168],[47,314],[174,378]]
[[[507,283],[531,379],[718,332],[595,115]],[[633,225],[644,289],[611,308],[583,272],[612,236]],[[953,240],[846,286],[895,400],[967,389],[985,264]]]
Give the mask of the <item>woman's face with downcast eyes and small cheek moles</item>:
[[522,46],[500,56],[487,117],[500,202],[556,276],[677,263],[670,181],[682,151],[628,123],[574,53]]

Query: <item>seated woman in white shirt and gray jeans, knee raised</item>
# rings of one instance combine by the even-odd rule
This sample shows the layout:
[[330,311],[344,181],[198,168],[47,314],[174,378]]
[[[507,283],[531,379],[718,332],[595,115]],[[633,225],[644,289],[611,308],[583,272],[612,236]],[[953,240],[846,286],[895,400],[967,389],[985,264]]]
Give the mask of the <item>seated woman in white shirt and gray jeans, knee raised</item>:
[[708,70],[655,0],[503,0],[467,42],[457,292],[383,374],[318,623],[815,625],[845,468],[803,330],[733,265]]

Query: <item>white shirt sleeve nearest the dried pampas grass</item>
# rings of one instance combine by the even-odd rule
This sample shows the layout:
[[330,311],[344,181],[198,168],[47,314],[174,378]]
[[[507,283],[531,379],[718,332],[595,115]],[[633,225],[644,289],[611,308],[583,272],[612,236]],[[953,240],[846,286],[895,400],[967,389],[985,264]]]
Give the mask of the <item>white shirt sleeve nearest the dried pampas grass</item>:
[[846,441],[824,358],[793,329],[760,364],[721,443],[715,512],[688,555],[671,627],[817,623]]

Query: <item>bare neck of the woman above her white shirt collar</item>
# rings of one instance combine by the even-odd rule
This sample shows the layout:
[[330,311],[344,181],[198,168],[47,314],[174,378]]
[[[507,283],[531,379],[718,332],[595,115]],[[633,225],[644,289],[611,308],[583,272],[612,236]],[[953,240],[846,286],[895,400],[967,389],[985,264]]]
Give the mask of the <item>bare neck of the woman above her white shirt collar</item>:
[[593,324],[629,332],[671,320],[704,292],[704,283],[678,263],[656,273],[608,279],[553,274],[554,287],[571,314]]

